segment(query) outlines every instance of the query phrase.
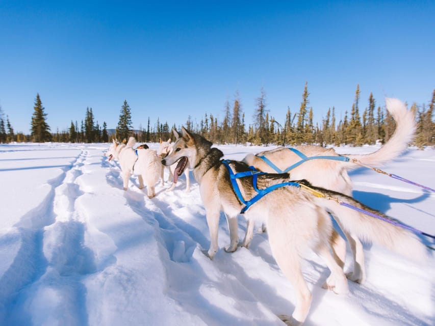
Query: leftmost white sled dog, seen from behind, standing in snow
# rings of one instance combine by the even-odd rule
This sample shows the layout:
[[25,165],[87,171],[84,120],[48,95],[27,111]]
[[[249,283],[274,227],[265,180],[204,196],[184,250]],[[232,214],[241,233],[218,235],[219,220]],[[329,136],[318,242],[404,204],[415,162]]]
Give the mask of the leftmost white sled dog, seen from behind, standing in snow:
[[127,190],[129,185],[130,175],[134,174],[139,179],[139,189],[143,188],[145,180],[146,191],[149,198],[156,196],[155,184],[159,178],[163,180],[163,166],[160,162],[161,158],[157,156],[157,152],[152,149],[134,150],[136,144],[134,137],[130,137],[126,145],[119,144],[113,140],[113,144],[105,153],[112,159],[119,160],[119,165],[122,171],[122,179],[124,181],[124,190]]

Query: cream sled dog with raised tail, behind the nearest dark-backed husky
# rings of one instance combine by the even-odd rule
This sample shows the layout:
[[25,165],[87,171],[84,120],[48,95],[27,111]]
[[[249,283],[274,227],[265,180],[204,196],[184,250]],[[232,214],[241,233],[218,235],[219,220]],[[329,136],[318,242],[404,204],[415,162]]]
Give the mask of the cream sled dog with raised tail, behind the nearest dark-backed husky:
[[[405,104],[395,98],[386,98],[386,106],[388,112],[396,122],[396,128],[392,137],[385,145],[371,154],[343,155],[349,158],[348,161],[337,159],[306,160],[299,166],[288,171],[291,179],[305,179],[315,186],[352,196],[352,182],[347,174],[349,170],[361,167],[360,164],[370,167],[380,167],[385,162],[396,158],[402,153],[413,138],[416,129],[413,112],[406,110]],[[296,146],[293,148],[307,157],[335,156],[335,158],[337,158],[340,156],[332,148],[326,149],[313,145]],[[273,168],[268,164],[267,160],[272,162],[274,165]],[[243,159],[243,162],[263,172],[277,173],[288,170],[289,167],[292,167],[301,160],[302,158],[298,153],[295,153],[289,148],[280,147],[256,155],[248,154]],[[349,273],[349,279],[363,283],[366,278],[363,246],[354,233],[347,232],[347,230],[340,225],[340,221],[337,221],[337,223],[348,239],[353,256],[353,271]],[[246,236],[242,246],[249,247],[252,240],[253,228],[254,224],[252,221],[248,221]],[[346,254],[346,243],[335,230],[332,231],[330,241],[337,262],[343,266]]]

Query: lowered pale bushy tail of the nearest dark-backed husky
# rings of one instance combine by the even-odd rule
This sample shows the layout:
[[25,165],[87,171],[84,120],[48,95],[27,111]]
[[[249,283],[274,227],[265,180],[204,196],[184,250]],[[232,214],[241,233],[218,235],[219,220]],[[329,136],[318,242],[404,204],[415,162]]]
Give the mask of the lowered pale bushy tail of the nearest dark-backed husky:
[[[369,208],[359,201],[338,193],[331,194],[361,210],[397,222],[385,214]],[[374,242],[411,260],[422,262],[428,258],[429,252],[417,235],[398,225],[365,214],[361,211],[342,206],[335,201],[323,199],[323,205],[330,211],[347,232],[356,235],[363,242]]]

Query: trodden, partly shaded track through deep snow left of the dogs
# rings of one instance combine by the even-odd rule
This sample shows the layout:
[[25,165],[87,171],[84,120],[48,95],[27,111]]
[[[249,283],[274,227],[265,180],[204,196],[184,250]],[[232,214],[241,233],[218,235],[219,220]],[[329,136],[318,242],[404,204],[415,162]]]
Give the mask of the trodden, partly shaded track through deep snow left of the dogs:
[[[13,264],[0,280],[5,324],[49,322],[49,310],[65,307],[75,324],[86,324],[85,288],[80,276],[92,273],[92,254],[83,247],[85,227],[74,219],[74,201],[83,192],[76,179],[89,155],[80,154],[48,184],[51,189],[38,207],[15,225],[21,247]],[[16,274],[21,271],[21,274]],[[65,282],[61,278],[67,278]],[[50,285],[66,284],[62,291]],[[44,311],[39,311],[44,307]],[[55,316],[60,317],[60,316]]]

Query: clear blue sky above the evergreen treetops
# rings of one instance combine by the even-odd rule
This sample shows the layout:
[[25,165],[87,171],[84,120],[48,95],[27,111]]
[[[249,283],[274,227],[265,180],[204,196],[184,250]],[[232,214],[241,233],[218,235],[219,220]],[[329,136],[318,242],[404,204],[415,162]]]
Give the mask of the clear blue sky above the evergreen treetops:
[[85,118],[135,128],[222,120],[239,91],[246,124],[266,92],[284,123],[308,82],[317,122],[360,110],[370,92],[428,103],[435,89],[434,1],[2,1],[0,105],[29,133],[39,93],[53,132]]

